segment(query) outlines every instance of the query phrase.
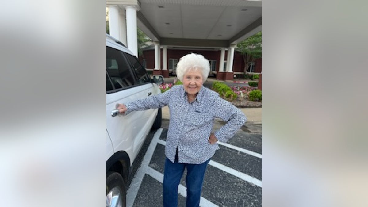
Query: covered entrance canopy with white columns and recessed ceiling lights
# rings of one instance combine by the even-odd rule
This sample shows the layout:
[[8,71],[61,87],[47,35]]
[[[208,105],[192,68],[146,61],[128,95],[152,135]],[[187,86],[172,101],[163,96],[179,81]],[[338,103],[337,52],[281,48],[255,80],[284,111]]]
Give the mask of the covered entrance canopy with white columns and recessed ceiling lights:
[[[164,75],[168,47],[220,49],[219,72],[232,73],[236,43],[261,31],[259,0],[107,0],[107,6],[110,35],[138,56],[137,27],[141,29],[154,41],[155,70]],[[230,61],[223,71],[226,49]]]

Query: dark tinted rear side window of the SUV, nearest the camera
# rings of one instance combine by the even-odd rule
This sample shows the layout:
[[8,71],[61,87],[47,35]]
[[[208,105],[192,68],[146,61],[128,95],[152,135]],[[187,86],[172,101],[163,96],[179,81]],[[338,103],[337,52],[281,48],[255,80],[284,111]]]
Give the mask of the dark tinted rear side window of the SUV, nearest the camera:
[[120,50],[106,47],[106,71],[113,89],[130,87],[135,83],[135,78]]

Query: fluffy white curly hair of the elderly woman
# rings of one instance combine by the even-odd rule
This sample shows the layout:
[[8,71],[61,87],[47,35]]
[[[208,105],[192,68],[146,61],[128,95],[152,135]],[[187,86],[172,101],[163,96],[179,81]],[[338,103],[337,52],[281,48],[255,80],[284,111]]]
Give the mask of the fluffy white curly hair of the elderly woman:
[[187,73],[188,70],[199,70],[202,74],[203,82],[205,82],[210,70],[209,61],[205,59],[203,55],[196,53],[184,55],[180,58],[176,66],[176,76],[181,82],[183,82],[184,74]]

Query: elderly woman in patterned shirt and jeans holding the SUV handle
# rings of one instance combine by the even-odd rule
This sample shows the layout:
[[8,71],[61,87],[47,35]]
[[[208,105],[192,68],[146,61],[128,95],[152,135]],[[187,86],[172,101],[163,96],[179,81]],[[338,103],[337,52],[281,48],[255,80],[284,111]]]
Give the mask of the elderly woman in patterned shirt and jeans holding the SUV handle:
[[[170,123],[165,147],[163,179],[163,206],[177,206],[178,185],[187,168],[187,206],[199,206],[207,164],[219,149],[217,140],[226,142],[245,123],[241,110],[205,88],[209,74],[209,61],[202,55],[191,53],[180,58],[177,78],[183,85],[153,97],[119,104],[120,113],[169,106]],[[214,134],[214,119],[227,121]]]

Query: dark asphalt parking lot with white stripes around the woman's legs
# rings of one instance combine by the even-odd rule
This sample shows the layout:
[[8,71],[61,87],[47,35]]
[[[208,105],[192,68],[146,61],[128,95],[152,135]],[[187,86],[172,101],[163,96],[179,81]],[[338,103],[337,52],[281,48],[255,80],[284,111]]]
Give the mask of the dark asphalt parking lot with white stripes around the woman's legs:
[[[169,120],[151,131],[128,181],[127,206],[162,206],[164,148]],[[213,130],[224,124],[216,120]],[[200,206],[262,206],[261,124],[245,123],[212,157],[205,174]],[[185,175],[178,188],[178,206],[185,206]]]

